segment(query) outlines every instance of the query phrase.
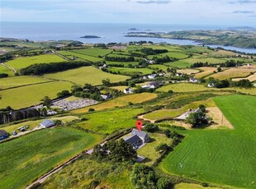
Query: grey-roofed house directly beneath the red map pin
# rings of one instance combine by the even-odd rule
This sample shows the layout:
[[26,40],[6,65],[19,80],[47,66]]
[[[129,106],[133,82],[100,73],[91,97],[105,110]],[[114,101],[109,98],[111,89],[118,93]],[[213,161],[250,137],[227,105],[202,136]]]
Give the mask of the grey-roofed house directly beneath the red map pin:
[[126,138],[125,141],[132,145],[134,149],[138,149],[140,145],[149,142],[149,135],[145,131],[133,129],[130,133],[130,136]]

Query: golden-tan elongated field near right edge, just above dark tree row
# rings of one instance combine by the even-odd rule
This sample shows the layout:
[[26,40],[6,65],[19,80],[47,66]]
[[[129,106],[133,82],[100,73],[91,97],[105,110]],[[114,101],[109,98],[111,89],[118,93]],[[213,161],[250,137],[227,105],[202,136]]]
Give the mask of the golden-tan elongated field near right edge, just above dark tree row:
[[[247,68],[232,67],[225,71],[217,72],[216,74],[213,74],[211,76],[219,80],[224,80],[224,79],[235,78],[235,77],[246,77],[250,75],[250,72],[255,72],[255,71],[256,70],[247,69]],[[206,77],[206,79],[208,77]]]

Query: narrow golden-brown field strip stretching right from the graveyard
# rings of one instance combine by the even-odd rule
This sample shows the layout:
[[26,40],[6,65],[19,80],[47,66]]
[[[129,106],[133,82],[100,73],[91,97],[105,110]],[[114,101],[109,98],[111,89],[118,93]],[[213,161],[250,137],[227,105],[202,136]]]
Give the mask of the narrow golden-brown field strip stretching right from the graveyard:
[[121,96],[116,99],[111,99],[105,103],[92,105],[85,108],[79,108],[72,111],[72,113],[86,113],[88,112],[89,108],[94,108],[95,110],[102,110],[107,108],[115,108],[115,107],[123,107],[130,103],[138,104],[148,101],[150,99],[156,98],[157,95],[154,93],[140,93],[140,94],[133,94],[133,95],[126,95]]

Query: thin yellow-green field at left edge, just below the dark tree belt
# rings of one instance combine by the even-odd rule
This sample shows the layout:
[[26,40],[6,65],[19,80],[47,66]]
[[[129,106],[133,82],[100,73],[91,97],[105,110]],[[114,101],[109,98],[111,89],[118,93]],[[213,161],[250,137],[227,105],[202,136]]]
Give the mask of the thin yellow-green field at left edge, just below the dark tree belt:
[[31,85],[37,83],[44,83],[47,80],[38,76],[14,76],[0,79],[0,90],[10,87],[17,87],[22,85]]

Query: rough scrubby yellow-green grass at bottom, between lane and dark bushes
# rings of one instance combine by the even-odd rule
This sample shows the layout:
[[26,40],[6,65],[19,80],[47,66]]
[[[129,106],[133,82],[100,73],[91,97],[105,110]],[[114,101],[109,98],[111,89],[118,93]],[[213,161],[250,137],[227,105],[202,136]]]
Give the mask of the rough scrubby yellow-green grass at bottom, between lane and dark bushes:
[[46,180],[42,188],[91,188],[90,183],[93,181],[100,182],[99,188],[133,188],[126,165],[97,162],[88,156],[55,173]]

